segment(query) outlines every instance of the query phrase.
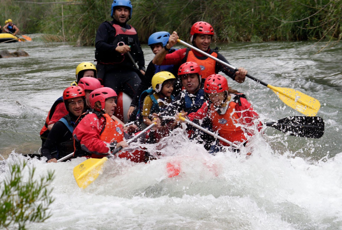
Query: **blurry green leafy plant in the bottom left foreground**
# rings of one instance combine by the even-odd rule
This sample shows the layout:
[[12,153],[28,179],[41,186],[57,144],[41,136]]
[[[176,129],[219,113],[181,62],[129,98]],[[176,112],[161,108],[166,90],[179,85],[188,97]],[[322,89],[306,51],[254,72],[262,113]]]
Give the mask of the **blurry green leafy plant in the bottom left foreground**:
[[[10,166],[9,175],[0,183],[0,228],[25,229],[27,221],[43,222],[51,217],[48,208],[54,199],[48,187],[53,172],[36,180],[35,170],[27,162]],[[23,173],[27,171],[28,177]]]

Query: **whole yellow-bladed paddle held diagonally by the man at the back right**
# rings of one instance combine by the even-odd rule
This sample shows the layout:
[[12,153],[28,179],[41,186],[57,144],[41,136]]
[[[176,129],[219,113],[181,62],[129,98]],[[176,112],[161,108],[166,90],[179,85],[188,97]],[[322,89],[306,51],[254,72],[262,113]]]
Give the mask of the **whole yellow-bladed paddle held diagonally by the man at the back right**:
[[[223,61],[221,61],[220,59],[210,55],[209,53],[206,53],[188,43],[186,43],[185,41],[182,41],[180,39],[177,39],[177,41],[181,44],[183,44],[184,46],[187,46],[193,50],[196,50],[197,52],[210,57],[211,59],[215,60],[216,62],[227,66],[231,69],[234,69],[235,71],[238,71],[237,68],[235,68],[232,65],[229,65],[228,63],[225,63]],[[282,87],[275,87],[275,86],[271,86],[266,84],[265,82],[258,80],[257,78],[254,78],[252,76],[250,76],[249,74],[246,75],[247,77],[249,77],[250,79],[259,82],[260,84],[270,88],[273,90],[273,92],[275,94],[278,95],[279,99],[284,102],[286,105],[290,106],[291,108],[293,108],[294,110],[297,110],[298,112],[306,115],[306,116],[315,116],[319,110],[320,107],[320,103],[317,99],[312,98],[298,90],[295,89],[291,89],[291,88],[282,88]]]

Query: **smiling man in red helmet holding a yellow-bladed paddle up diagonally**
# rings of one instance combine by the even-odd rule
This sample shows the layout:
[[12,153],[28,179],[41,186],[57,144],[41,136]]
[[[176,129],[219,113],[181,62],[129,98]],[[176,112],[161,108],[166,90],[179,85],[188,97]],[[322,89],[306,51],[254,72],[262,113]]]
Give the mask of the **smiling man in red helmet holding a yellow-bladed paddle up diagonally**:
[[[214,35],[213,27],[207,22],[196,22],[192,25],[190,30],[191,42],[198,49],[211,54],[218,59],[229,63],[222,54],[218,53],[217,50],[210,49],[210,43]],[[190,48],[183,48],[176,50],[173,53],[167,54],[168,50],[177,43],[178,39],[177,33],[174,31],[169,37],[169,42],[160,50],[153,59],[153,64],[155,65],[178,65],[180,66],[185,62],[196,62],[200,65],[202,70],[202,78],[207,78],[212,74],[217,74],[219,72],[225,73],[227,76],[233,80],[242,83],[245,81],[247,71],[246,69],[239,67],[237,72],[233,72],[222,66],[211,58],[204,56],[195,50]]]

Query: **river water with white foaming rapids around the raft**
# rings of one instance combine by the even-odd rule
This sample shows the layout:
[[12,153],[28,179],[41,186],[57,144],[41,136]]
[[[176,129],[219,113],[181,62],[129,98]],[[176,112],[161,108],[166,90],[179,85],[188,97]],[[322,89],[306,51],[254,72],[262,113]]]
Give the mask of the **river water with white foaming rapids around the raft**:
[[[146,146],[162,157],[148,164],[110,159],[86,189],[78,188],[73,168],[84,158],[46,164],[37,159],[36,177],[55,170],[52,217],[28,229],[342,229],[342,43],[263,42],[217,44],[235,67],[273,86],[318,99],[325,121],[320,139],[287,136],[264,127],[246,159],[229,150],[212,156],[185,138],[182,129]],[[94,59],[93,47],[33,42],[0,44],[28,57],[0,59],[0,154],[8,166],[36,153],[39,131],[52,103],[75,79],[80,62]],[[144,47],[146,66],[153,58]],[[244,92],[263,122],[302,115],[285,106],[267,87],[246,79],[229,86]],[[10,154],[10,155],[9,155]],[[8,159],[7,159],[8,158]],[[168,178],[166,164],[181,166]]]

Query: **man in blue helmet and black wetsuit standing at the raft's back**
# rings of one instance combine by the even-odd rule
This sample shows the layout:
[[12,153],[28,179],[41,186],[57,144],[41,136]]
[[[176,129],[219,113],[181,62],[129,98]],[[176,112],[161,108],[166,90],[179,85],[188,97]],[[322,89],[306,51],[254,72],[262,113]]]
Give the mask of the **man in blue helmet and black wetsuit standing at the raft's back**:
[[145,59],[136,30],[127,24],[132,17],[131,1],[114,0],[110,16],[113,21],[103,22],[96,32],[97,78],[105,87],[133,97],[145,74]]

